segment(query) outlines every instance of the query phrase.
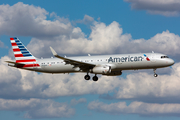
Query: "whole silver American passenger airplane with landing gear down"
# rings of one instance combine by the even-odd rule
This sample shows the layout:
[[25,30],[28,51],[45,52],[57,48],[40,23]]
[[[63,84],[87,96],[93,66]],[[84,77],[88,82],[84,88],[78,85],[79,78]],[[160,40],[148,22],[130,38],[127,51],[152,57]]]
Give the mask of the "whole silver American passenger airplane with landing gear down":
[[98,56],[62,57],[50,47],[56,58],[38,59],[22,44],[18,38],[10,38],[16,61],[6,61],[9,66],[44,72],[44,73],[75,73],[84,72],[85,80],[90,80],[89,73],[95,74],[92,78],[98,80],[97,74],[107,76],[121,75],[123,70],[156,69],[168,67],[174,61],[167,55],[160,53],[115,54]]

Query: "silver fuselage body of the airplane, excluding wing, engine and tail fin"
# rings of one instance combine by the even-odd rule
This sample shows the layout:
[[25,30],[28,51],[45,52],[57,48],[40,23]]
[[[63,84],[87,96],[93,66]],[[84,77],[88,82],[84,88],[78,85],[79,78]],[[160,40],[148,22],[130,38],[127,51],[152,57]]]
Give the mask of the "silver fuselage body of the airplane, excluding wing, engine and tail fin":
[[[139,54],[115,54],[115,55],[96,55],[96,56],[79,56],[68,57],[69,59],[81,61],[85,63],[95,64],[96,66],[111,66],[112,71],[117,70],[137,70],[137,69],[157,69],[168,67],[174,64],[170,58],[161,58],[166,56],[160,53],[145,53],[149,61],[144,56],[144,53]],[[87,72],[81,70],[78,66],[67,64],[59,58],[37,59],[40,66],[32,68],[22,68],[37,72],[45,73],[73,73]]]

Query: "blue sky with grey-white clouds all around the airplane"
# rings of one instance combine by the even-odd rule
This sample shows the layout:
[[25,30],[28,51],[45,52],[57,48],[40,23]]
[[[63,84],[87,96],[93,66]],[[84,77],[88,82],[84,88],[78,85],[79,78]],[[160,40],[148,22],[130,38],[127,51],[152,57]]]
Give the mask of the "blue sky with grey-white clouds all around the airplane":
[[[179,0],[1,0],[0,119],[179,120]],[[85,73],[45,74],[9,67],[10,37],[37,58],[163,53],[171,67],[122,71],[85,81]],[[91,74],[93,76],[93,74]]]

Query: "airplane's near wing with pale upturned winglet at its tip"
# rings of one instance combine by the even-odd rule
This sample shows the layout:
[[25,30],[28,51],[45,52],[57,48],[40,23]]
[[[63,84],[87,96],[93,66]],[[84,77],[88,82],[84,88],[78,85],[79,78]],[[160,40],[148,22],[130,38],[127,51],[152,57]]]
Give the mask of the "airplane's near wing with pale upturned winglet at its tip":
[[50,49],[51,49],[51,52],[53,53],[53,55],[55,57],[64,60],[64,62],[66,64],[74,65],[74,67],[80,67],[82,70],[83,69],[92,69],[93,67],[96,66],[95,64],[85,63],[85,62],[81,62],[81,61],[77,61],[77,60],[73,60],[73,59],[69,59],[69,58],[65,58],[65,57],[59,56],[52,47],[50,47]]

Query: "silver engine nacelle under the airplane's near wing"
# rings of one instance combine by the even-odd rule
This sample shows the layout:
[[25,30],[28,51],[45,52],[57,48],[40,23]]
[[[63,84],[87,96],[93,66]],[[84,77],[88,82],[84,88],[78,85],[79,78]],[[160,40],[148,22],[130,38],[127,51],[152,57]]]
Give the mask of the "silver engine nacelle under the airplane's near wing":
[[92,73],[95,74],[109,74],[111,73],[110,66],[96,66],[91,70]]

